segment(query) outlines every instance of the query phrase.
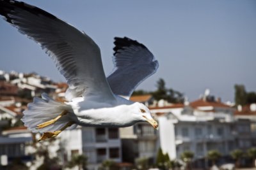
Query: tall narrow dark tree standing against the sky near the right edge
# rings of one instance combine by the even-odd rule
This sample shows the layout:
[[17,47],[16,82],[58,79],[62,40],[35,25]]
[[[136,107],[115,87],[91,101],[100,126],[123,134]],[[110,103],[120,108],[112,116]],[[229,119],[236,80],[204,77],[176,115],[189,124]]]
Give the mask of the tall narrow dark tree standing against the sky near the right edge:
[[244,88],[244,85],[235,85],[235,102],[236,105],[242,105],[246,104],[246,90]]

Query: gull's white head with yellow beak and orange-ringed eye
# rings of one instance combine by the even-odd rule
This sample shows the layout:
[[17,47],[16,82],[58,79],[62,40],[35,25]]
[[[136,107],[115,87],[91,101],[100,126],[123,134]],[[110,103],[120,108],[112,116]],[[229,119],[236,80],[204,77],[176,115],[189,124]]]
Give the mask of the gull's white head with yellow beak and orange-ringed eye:
[[133,115],[134,117],[136,117],[137,120],[139,120],[140,122],[148,122],[149,124],[151,124],[155,129],[157,129],[158,124],[156,122],[156,120],[154,120],[152,118],[152,115],[149,111],[149,109],[147,108],[147,106],[145,106],[142,103],[134,103],[135,107],[134,107],[134,112]]

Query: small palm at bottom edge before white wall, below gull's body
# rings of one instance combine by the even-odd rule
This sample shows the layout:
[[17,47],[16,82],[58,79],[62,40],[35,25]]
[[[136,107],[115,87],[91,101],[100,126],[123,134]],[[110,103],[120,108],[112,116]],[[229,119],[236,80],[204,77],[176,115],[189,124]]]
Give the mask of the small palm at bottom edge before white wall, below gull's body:
[[68,162],[67,167],[75,167],[78,166],[78,169],[86,169],[87,165],[87,158],[86,156],[82,155],[74,155],[72,159]]

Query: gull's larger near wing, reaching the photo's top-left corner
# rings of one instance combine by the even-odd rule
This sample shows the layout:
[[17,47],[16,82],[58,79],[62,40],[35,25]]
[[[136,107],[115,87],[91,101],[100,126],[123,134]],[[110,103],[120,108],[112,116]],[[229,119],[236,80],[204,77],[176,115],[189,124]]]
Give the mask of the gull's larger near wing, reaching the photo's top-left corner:
[[51,13],[19,1],[0,0],[0,14],[19,32],[40,44],[54,60],[67,80],[68,100],[96,92],[114,99],[102,67],[99,46],[89,36]]

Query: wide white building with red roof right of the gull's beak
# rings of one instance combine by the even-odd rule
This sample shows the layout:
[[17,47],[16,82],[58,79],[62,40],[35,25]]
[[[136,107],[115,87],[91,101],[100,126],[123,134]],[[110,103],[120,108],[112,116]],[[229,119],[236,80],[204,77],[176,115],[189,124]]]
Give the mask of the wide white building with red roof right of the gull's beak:
[[250,121],[235,118],[236,109],[212,97],[150,111],[158,115],[160,146],[170,159],[180,159],[181,153],[190,150],[196,166],[207,167],[204,158],[209,150],[218,150],[225,162],[232,150],[256,146]]

